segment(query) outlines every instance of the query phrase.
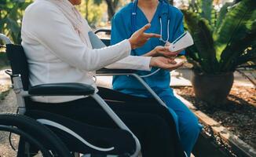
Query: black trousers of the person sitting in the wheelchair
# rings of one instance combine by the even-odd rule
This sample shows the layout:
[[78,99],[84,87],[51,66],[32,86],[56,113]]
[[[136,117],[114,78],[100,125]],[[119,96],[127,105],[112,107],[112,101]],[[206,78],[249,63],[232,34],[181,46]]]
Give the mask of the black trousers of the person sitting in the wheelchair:
[[[174,118],[166,107],[152,98],[133,97],[112,89],[99,88],[98,94],[141,141],[143,156],[185,156]],[[31,102],[27,109],[49,111],[93,126],[117,127],[91,97],[58,104]]]

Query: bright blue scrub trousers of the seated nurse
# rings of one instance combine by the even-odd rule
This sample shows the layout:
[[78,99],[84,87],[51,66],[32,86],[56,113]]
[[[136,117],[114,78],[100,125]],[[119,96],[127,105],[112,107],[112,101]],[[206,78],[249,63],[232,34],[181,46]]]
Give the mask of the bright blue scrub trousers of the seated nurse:
[[[181,145],[189,157],[192,152],[192,148],[196,144],[202,126],[199,124],[196,115],[194,115],[192,111],[190,111],[188,107],[181,102],[181,100],[174,96],[172,89],[153,90],[164,101],[171,115],[173,115]],[[137,91],[135,89],[127,89],[122,90],[122,92],[126,94],[129,93],[135,97],[152,99],[152,95],[148,93],[147,90]]]

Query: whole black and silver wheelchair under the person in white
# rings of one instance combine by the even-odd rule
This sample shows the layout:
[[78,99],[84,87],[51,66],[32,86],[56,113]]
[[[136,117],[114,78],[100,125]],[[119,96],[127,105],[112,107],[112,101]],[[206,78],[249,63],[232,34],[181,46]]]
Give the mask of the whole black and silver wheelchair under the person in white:
[[[95,34],[101,31],[110,33],[110,30],[97,30]],[[141,156],[141,144],[137,137],[112,111],[112,108],[94,93],[92,86],[74,82],[29,86],[29,68],[24,49],[20,45],[12,44],[5,35],[0,34],[0,39],[5,42],[6,54],[11,65],[11,70],[6,70],[5,73],[11,77],[18,105],[16,114],[0,114],[0,130],[20,136],[17,157]],[[102,42],[107,46],[110,43],[109,39],[102,39]],[[134,71],[103,68],[97,71],[97,75],[131,75],[148,89],[159,104],[166,106]],[[77,122],[73,119],[46,111],[28,110],[26,107],[32,101],[30,97],[36,96],[92,97],[119,128],[104,128],[81,123],[79,128],[74,129],[72,126]],[[64,141],[62,137],[68,137],[71,141]]]

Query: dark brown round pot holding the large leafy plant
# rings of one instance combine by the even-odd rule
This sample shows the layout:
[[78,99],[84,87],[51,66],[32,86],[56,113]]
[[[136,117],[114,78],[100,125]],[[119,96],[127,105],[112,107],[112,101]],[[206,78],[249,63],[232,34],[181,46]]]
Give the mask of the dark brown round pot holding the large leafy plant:
[[221,104],[229,95],[234,82],[233,72],[221,75],[192,72],[192,86],[196,97],[210,104]]

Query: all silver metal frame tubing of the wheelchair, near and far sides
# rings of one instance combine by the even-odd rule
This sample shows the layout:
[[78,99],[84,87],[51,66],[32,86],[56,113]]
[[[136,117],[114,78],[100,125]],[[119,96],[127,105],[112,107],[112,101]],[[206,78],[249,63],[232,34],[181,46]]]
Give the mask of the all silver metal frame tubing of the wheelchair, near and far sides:
[[[98,32],[109,32],[110,33],[111,31],[109,29],[99,29],[97,31],[94,31],[95,34],[97,34]],[[6,37],[5,35],[0,34],[0,39],[5,42],[5,45],[13,44],[12,41],[8,37]],[[13,82],[13,91],[16,93],[16,101],[17,101],[17,104],[18,104],[18,114],[20,114],[20,115],[24,115],[24,113],[26,111],[25,102],[24,102],[25,97],[61,96],[60,94],[50,94],[50,95],[49,94],[45,94],[45,95],[30,94],[28,91],[24,90],[24,88],[23,88],[23,84],[22,84],[22,81],[21,81],[21,75],[13,75],[11,71],[5,71],[5,72],[8,75],[11,76],[11,79],[12,79],[12,82]],[[144,86],[144,88],[147,89],[148,92],[152,94],[152,97],[154,97],[155,100],[157,100],[159,102],[159,104],[166,107],[166,104],[163,102],[163,100],[161,100],[157,96],[157,94],[148,86],[148,84],[146,82],[144,82],[144,80],[141,79],[141,77],[139,75],[137,75],[136,73],[133,73],[131,71],[122,70],[122,69],[106,69],[106,68],[104,68],[104,70],[101,69],[101,70],[97,71],[96,75],[97,76],[130,75],[130,76],[134,77],[135,79],[137,79],[137,81],[140,82],[141,85]],[[133,139],[134,139],[135,144],[136,144],[136,150],[133,153],[133,155],[131,155],[131,156],[132,157],[138,156],[139,153],[141,152],[141,144],[138,141],[137,137],[126,126],[126,124],[121,119],[119,119],[119,116],[116,115],[114,111],[112,111],[112,108],[110,108],[108,106],[108,104],[97,93],[93,93],[93,94],[90,94],[88,96],[93,97],[93,99],[96,100],[97,103],[101,105],[101,108],[103,108],[104,111],[107,112],[107,114],[112,118],[112,120],[117,124],[117,126],[119,126],[120,129],[126,130],[126,131],[128,131],[132,134]],[[62,126],[59,123],[49,122],[46,119],[38,119],[37,121],[44,124],[44,125],[54,126],[54,127],[59,128],[59,129],[61,128],[60,130],[64,130],[64,131],[70,133],[70,130],[67,130],[67,128],[65,128],[65,126]],[[74,137],[76,137],[77,139],[79,139],[80,141],[83,140],[83,139],[81,139],[82,137],[79,137],[79,135],[74,133],[74,132],[71,132],[70,134],[73,135]],[[93,144],[90,144],[89,142],[86,142],[86,141],[82,141],[82,143],[84,143],[88,147],[96,149],[98,151],[108,151],[108,150],[113,149],[113,148],[99,148],[97,146],[94,146]],[[75,156],[79,156],[79,155],[75,154]]]

